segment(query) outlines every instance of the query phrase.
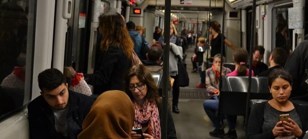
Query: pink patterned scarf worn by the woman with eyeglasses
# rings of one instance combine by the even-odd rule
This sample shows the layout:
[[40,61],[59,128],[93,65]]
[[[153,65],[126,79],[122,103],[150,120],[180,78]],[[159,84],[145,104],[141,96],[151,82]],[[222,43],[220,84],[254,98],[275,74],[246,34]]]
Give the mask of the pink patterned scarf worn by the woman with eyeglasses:
[[156,103],[150,103],[148,100],[145,100],[143,103],[142,113],[140,113],[138,109],[138,104],[136,101],[133,101],[133,105],[135,108],[135,121],[134,127],[141,127],[141,124],[149,123],[151,127],[151,136],[155,139],[160,139],[160,121],[159,121],[159,113],[156,106]]

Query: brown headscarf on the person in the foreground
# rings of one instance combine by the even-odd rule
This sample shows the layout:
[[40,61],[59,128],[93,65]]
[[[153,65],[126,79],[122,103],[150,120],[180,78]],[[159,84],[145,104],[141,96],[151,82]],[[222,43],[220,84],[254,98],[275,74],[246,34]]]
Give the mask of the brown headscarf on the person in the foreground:
[[104,92],[84,119],[78,139],[130,139],[134,119],[135,110],[126,93],[118,90]]

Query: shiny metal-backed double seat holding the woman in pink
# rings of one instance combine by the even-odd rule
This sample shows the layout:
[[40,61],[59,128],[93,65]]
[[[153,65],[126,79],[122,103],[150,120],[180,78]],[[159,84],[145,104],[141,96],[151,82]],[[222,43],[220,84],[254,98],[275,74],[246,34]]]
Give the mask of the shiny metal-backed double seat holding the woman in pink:
[[[244,116],[246,113],[248,77],[223,76],[221,82],[218,113]],[[271,94],[269,89],[265,89],[267,86],[267,77],[252,77],[250,99],[269,99]]]

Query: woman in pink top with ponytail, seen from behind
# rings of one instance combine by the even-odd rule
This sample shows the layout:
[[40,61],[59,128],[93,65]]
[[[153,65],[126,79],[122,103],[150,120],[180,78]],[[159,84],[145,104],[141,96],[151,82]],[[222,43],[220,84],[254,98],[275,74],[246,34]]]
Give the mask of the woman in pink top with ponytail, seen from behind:
[[[234,64],[235,70],[226,74],[227,76],[248,76],[249,69],[246,68],[246,63],[248,61],[248,52],[247,50],[240,48],[234,51]],[[252,74],[253,76],[253,71]]]

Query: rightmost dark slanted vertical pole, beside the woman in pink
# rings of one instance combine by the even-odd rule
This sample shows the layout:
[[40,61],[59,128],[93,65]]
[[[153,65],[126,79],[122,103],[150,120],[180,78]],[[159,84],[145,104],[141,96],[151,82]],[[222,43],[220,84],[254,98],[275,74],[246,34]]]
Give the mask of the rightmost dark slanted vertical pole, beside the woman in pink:
[[251,36],[250,36],[250,57],[249,57],[249,76],[248,76],[248,90],[247,90],[247,99],[246,99],[246,114],[245,114],[245,125],[247,127],[248,117],[249,117],[249,102],[250,102],[250,92],[251,92],[251,74],[252,74],[252,55],[253,55],[253,46],[255,42],[256,35],[256,0],[253,0],[252,6],[252,23],[251,23]]

